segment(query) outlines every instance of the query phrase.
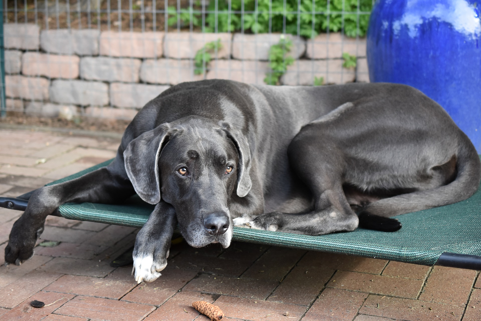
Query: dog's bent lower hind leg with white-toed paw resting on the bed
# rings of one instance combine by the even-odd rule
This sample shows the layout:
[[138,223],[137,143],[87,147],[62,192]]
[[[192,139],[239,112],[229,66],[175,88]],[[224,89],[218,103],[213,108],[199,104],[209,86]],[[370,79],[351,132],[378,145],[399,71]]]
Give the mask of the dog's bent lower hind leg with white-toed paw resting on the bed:
[[[312,148],[312,144],[322,144]],[[336,231],[353,231],[358,218],[342,190],[343,160],[335,146],[316,139],[294,140],[289,146],[292,169],[314,196],[314,210],[305,214],[267,213],[261,216],[243,215],[236,226],[254,229],[320,235]],[[326,153],[325,151],[329,151]]]

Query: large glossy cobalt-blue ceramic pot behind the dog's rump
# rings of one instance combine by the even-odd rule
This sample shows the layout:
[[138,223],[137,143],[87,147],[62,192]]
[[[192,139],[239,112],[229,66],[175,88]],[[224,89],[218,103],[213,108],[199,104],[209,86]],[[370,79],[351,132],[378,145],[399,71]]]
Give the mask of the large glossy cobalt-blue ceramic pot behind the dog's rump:
[[413,86],[441,104],[481,154],[481,1],[377,0],[371,82]]

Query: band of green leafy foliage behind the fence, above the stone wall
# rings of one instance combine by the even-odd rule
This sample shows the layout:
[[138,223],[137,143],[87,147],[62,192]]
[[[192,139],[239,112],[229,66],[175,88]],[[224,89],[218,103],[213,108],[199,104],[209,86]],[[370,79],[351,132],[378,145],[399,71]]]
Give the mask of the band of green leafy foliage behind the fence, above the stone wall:
[[[282,32],[307,38],[328,29],[333,32],[343,29],[348,37],[362,37],[367,31],[371,8],[372,0],[285,0],[285,3],[284,0],[231,0],[230,8],[228,0],[211,0],[202,27],[204,32],[233,32],[241,30],[243,23],[244,31]],[[168,24],[201,26],[201,9],[199,2],[178,12],[170,6]],[[243,21],[239,13],[242,11],[246,12]]]

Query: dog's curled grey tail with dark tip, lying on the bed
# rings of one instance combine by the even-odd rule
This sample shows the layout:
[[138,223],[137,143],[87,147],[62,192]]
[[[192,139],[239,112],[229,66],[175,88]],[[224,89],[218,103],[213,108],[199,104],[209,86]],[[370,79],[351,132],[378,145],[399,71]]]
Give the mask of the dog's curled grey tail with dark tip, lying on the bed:
[[453,204],[474,194],[481,180],[481,162],[468,137],[466,140],[465,143],[460,144],[456,154],[457,175],[455,180],[430,190],[401,194],[373,202],[359,214],[359,226],[387,231],[386,228],[378,226],[376,219]]

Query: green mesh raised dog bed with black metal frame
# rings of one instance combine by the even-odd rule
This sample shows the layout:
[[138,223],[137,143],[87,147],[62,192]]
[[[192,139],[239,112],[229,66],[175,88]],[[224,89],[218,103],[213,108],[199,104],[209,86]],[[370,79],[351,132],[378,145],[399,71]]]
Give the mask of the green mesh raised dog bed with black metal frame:
[[[110,162],[48,185],[72,180]],[[21,202],[19,199],[3,198],[0,205],[25,209],[26,201],[23,201],[23,206]],[[70,219],[141,227],[153,206],[133,196],[123,205],[65,204],[59,207],[58,214]],[[397,218],[403,228],[396,232],[357,229],[353,232],[308,236],[235,227],[233,240],[481,270],[481,188],[465,201]]]

